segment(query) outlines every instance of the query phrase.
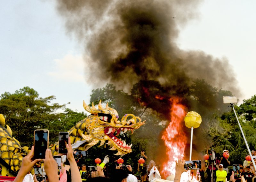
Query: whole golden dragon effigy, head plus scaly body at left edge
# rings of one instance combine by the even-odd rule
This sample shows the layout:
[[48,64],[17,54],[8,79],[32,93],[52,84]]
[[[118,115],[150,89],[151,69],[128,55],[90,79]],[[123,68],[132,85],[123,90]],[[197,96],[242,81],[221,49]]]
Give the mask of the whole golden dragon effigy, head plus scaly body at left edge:
[[[145,121],[133,114],[126,114],[119,120],[115,109],[102,107],[101,101],[98,109],[93,105],[89,107],[84,102],[84,109],[91,113],[87,118],[76,123],[68,133],[71,139],[73,149],[86,151],[90,147],[100,142],[100,146],[108,140],[109,150],[117,150],[115,155],[125,155],[132,152],[132,144],[126,144],[124,140],[117,138],[119,133],[127,131],[134,132]],[[59,143],[56,142],[50,146],[52,154],[58,154]],[[20,142],[12,137],[12,130],[5,125],[5,118],[0,114],[0,165],[2,166],[2,175],[16,176],[20,169],[22,158],[29,153],[28,147],[21,147]]]

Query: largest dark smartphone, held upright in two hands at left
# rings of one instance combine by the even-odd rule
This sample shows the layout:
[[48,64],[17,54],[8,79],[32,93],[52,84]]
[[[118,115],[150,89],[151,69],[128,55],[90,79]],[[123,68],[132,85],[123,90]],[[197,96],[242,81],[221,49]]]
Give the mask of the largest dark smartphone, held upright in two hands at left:
[[34,159],[44,159],[49,147],[49,130],[34,131]]

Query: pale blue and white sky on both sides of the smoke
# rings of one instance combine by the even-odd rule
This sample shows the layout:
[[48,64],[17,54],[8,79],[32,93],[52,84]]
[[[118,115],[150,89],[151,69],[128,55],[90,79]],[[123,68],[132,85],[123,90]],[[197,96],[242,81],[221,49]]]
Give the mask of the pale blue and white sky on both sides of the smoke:
[[[243,94],[240,102],[256,94],[254,7],[252,0],[204,1],[176,41],[180,49],[227,58]],[[0,0],[0,25],[0,94],[28,86],[40,97],[55,95],[54,102],[84,111],[83,100],[89,103],[96,87],[86,83],[83,45],[67,33],[55,1]]]

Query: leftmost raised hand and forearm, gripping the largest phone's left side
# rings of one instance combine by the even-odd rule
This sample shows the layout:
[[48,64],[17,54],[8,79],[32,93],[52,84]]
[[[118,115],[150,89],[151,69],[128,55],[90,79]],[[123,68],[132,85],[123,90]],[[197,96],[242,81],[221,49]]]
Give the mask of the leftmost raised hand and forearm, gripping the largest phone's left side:
[[22,163],[20,166],[20,171],[17,174],[17,177],[15,178],[14,182],[22,182],[26,174],[30,172],[34,165],[38,162],[40,162],[42,159],[35,159],[32,160],[34,157],[34,146],[31,147],[31,151],[26,157],[23,157]]

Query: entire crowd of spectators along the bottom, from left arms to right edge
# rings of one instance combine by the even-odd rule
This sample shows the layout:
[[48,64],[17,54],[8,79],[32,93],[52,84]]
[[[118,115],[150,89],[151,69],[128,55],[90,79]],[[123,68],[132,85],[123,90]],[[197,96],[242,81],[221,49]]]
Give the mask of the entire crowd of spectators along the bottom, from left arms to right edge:
[[[45,158],[43,160],[34,159],[34,147],[32,147],[30,153],[23,158],[20,170],[14,182],[38,182],[36,175],[34,174],[34,176],[32,176],[30,171],[34,166],[40,164],[42,161],[44,162],[43,169],[46,174],[46,179],[44,179],[43,182],[151,182],[154,179],[160,177],[159,171],[157,169],[158,167],[153,160],[151,160],[148,165],[146,165],[146,160],[148,157],[145,155],[144,151],[141,151],[140,154],[141,158],[143,158],[145,162],[142,163],[142,165],[138,163],[137,168],[137,171],[140,172],[140,175],[135,176],[131,165],[120,164],[116,166],[115,171],[112,171],[111,175],[108,176],[105,171],[105,164],[109,162],[108,156],[106,156],[103,162],[99,166],[95,167],[95,169],[87,171],[85,164],[77,166],[70,143],[70,138],[68,139],[67,149],[68,163],[66,163],[65,166],[63,163],[61,163],[61,170],[59,172],[60,174],[58,175],[58,164],[54,160],[51,150],[46,149]],[[223,153],[224,152],[229,151],[223,150]],[[203,178],[201,178],[202,182],[235,182],[237,180],[236,177],[239,179],[244,179],[243,182],[252,182],[253,177],[256,176],[255,168],[251,161],[248,162],[245,160],[243,164],[237,164],[235,167],[234,165],[233,167],[230,167],[231,165],[228,157],[223,157],[223,154],[214,154],[213,150],[211,150],[211,152],[207,150],[207,154],[211,156],[211,159],[209,163],[206,163],[205,168],[201,169],[201,172],[204,172]],[[256,162],[256,151],[252,151],[252,155],[252,159]],[[187,171],[184,168],[184,164],[185,160],[180,159],[179,161],[176,161],[175,177],[171,179],[172,181],[180,181],[181,173]]]

